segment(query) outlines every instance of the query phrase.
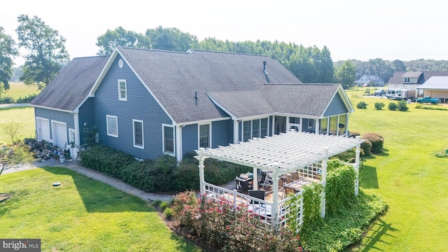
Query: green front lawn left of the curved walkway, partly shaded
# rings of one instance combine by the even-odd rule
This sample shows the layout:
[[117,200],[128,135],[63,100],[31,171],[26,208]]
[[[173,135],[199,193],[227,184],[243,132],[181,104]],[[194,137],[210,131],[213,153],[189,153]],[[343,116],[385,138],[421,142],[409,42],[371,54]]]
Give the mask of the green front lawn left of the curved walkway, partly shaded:
[[0,192],[1,237],[41,239],[42,251],[201,251],[151,204],[69,169],[1,175]]

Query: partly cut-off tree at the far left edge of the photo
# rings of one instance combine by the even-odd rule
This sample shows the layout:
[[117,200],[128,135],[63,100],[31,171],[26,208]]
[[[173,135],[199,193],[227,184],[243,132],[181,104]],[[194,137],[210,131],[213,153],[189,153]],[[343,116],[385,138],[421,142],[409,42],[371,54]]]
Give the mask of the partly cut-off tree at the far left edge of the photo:
[[9,80],[13,75],[13,58],[17,55],[19,52],[14,39],[0,27],[0,94],[9,89]]

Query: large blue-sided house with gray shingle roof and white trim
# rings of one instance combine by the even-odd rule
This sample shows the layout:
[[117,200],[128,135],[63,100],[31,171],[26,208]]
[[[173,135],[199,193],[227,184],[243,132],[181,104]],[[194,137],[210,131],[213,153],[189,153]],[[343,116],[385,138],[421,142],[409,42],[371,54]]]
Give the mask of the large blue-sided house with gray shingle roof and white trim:
[[136,48],[72,59],[31,106],[37,139],[72,156],[97,127],[99,144],[179,161],[290,130],[346,136],[354,111],[341,85],[304,84],[267,56]]

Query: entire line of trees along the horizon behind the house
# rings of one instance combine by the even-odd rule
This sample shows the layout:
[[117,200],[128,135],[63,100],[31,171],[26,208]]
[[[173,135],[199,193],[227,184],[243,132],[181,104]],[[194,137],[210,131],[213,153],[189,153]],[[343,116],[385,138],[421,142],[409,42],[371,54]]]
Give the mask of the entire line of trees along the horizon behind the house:
[[[18,28],[15,30],[18,43],[0,27],[0,94],[3,90],[8,90],[8,81],[13,76],[17,78],[18,71],[22,73],[19,80],[43,89],[70,60],[65,48],[66,39],[57,30],[48,27],[37,16],[30,18],[28,15],[20,15],[18,22]],[[368,62],[356,59],[333,62],[326,46],[305,47],[295,43],[260,40],[221,41],[211,37],[199,41],[197,36],[180,29],[161,26],[147,29],[144,34],[128,31],[123,27],[108,29],[106,33],[98,36],[96,45],[99,48],[97,55],[110,55],[118,46],[182,52],[195,48],[267,55],[278,60],[303,83],[341,83],[344,89],[353,87],[354,80],[364,74],[379,75],[387,83],[395,71],[448,69],[448,61],[424,59],[412,62],[402,62],[398,59],[389,62],[379,58],[370,59]],[[14,72],[13,58],[19,56],[18,48],[24,48],[27,54],[23,56],[25,64]]]

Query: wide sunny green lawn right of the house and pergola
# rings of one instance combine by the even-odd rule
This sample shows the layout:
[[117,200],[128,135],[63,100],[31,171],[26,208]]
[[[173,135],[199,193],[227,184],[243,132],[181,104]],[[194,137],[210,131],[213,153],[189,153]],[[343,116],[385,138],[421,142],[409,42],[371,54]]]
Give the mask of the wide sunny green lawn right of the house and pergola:
[[[388,111],[385,98],[348,92],[353,106],[367,109],[350,116],[351,131],[384,136],[385,151],[367,158],[360,186],[378,193],[389,208],[353,251],[446,251],[448,241],[448,158],[435,153],[448,148],[448,111]],[[374,109],[375,102],[386,104]],[[437,105],[434,107],[448,106]]]

